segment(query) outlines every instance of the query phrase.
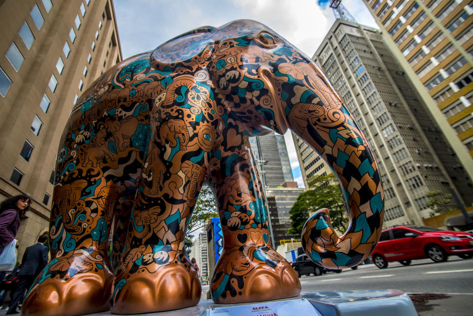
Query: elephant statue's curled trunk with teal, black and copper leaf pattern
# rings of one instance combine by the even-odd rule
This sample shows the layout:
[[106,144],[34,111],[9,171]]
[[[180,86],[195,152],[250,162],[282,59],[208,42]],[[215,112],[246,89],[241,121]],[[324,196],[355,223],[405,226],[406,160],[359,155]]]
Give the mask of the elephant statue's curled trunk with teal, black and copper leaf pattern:
[[325,74],[314,64],[283,64],[318,102],[302,100],[287,115],[290,128],[314,148],[337,175],[346,204],[348,230],[338,237],[327,209],[304,225],[301,241],[314,262],[332,269],[353,267],[376,246],[384,216],[381,177],[368,142]]

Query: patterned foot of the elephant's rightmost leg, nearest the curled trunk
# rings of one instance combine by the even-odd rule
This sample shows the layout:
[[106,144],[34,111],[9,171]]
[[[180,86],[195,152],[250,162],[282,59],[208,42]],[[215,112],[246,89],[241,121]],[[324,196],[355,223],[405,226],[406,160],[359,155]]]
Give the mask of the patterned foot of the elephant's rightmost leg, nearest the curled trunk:
[[290,264],[270,247],[245,245],[219,259],[210,289],[215,303],[247,303],[297,296],[301,282]]

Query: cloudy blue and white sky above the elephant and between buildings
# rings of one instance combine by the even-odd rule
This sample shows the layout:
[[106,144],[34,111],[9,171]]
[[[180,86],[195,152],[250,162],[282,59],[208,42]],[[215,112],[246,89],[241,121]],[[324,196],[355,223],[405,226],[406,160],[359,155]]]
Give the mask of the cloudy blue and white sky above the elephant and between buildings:
[[[312,57],[335,22],[330,0],[114,0],[123,58],[154,50],[174,36],[237,19],[261,22]],[[362,0],[342,0],[360,24],[377,28]],[[304,187],[290,132],[284,135],[295,181]]]

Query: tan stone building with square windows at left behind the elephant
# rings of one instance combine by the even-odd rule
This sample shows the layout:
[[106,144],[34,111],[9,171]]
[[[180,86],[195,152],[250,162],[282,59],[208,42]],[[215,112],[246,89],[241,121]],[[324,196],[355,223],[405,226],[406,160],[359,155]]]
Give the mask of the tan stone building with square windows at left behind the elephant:
[[72,106],[122,54],[112,0],[4,0],[0,28],[0,200],[33,199],[17,234],[21,253],[48,230]]

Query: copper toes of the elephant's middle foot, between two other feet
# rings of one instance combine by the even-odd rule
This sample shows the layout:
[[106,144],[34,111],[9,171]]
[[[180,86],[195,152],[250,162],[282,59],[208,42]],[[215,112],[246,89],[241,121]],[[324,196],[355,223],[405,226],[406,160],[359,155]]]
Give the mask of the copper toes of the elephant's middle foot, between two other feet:
[[173,261],[155,272],[140,267],[115,277],[110,311],[135,315],[181,309],[199,304],[201,292],[197,272],[188,263]]

